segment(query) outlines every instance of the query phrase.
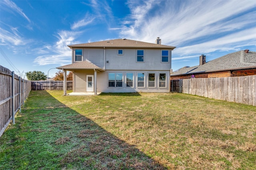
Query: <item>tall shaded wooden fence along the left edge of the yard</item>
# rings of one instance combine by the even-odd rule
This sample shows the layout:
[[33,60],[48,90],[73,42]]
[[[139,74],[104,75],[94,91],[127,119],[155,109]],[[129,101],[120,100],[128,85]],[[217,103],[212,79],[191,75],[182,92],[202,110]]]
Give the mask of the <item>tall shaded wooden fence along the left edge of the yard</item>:
[[11,121],[15,123],[15,114],[21,112],[30,90],[30,81],[0,65],[0,136]]

